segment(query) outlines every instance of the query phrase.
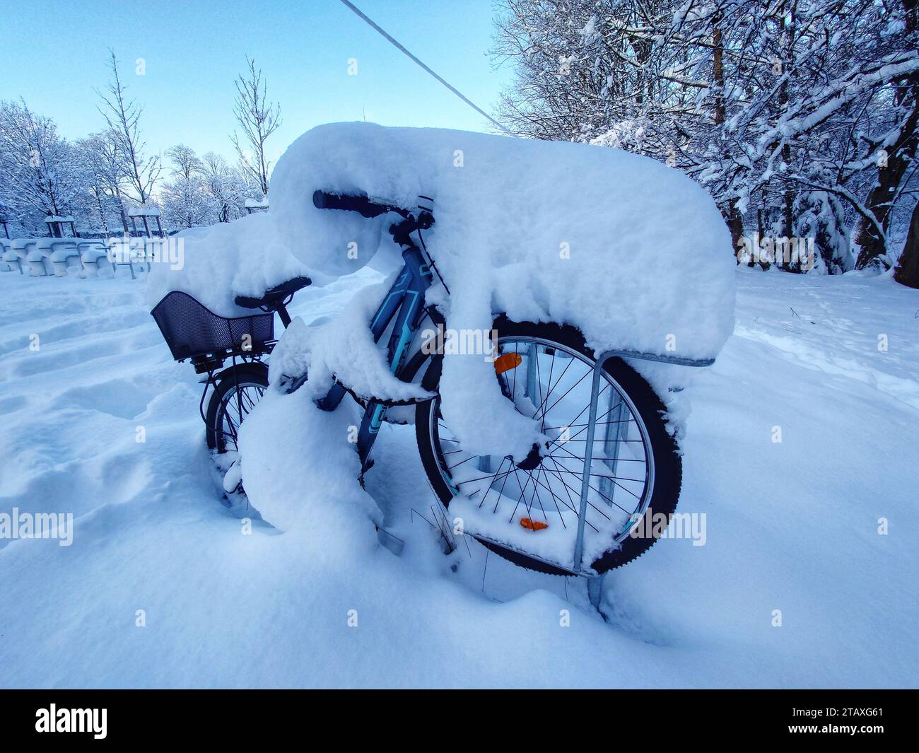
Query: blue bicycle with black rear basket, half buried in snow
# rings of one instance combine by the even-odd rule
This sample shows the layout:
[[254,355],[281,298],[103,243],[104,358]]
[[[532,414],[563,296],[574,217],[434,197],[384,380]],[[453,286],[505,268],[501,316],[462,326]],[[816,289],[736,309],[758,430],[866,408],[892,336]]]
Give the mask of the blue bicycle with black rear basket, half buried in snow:
[[[432,208],[410,211],[365,195],[323,191],[313,194],[313,204],[369,219],[398,216],[389,233],[402,250],[403,268],[369,327],[377,343],[389,333],[391,372],[434,395],[393,401],[357,394],[337,380],[330,385],[317,400],[320,408],[333,411],[351,394],[364,409],[357,432],[361,473],[373,464],[371,451],[382,424],[404,423],[406,411],[414,411],[418,451],[443,506],[441,532],[448,545],[455,545],[457,534],[469,534],[516,565],[582,576],[624,565],[651,547],[654,538],[636,531],[652,529],[642,525],[646,516],[659,520],[656,516],[673,514],[682,471],[664,405],[648,382],[622,358],[596,354],[572,326],[515,322],[499,315],[494,320],[494,378],[504,399],[538,428],[539,440],[524,457],[482,456],[464,449],[441,410],[445,353],[417,348],[415,342],[425,321],[444,324],[437,308],[425,302],[437,273],[422,237],[435,223]],[[285,304],[309,284],[298,278],[263,296],[235,299],[263,314],[226,319],[177,291],[153,310],[176,359],[189,358],[207,374],[202,381],[206,391],[209,385],[213,391],[206,412],[202,397],[202,416],[210,449],[229,456],[219,461],[224,470],[233,468],[239,425],[268,386],[263,357],[275,344],[274,312],[289,325]],[[227,359],[233,365],[223,369]],[[291,393],[307,377],[281,375],[278,386]],[[233,486],[238,479],[231,476]]]

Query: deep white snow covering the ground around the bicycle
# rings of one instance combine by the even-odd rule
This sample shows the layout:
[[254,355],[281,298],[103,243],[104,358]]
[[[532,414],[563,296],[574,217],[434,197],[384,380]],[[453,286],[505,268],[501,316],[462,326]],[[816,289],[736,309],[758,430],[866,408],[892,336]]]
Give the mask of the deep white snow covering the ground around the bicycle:
[[[0,512],[75,519],[71,546],[0,540],[0,685],[919,687],[919,293],[737,281],[734,335],[686,390],[678,509],[706,513],[705,545],[608,576],[607,624],[583,582],[439,552],[411,427],[383,429],[368,483],[402,557],[334,468],[297,490],[293,530],[246,535],[143,283],[0,274]],[[345,420],[277,451],[344,442]]]

